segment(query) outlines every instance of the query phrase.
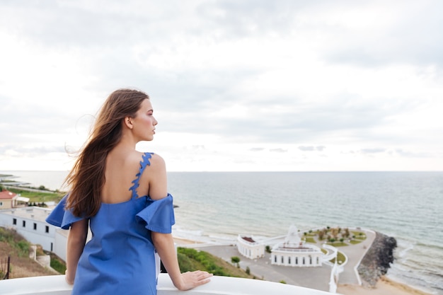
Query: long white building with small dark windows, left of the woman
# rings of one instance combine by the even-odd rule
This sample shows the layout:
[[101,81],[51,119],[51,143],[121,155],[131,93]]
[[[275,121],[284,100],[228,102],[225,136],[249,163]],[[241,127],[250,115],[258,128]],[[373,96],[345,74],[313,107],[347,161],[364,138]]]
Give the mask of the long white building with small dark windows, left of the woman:
[[30,243],[42,245],[43,250],[51,251],[66,260],[67,233],[57,226],[47,224],[46,217],[52,209],[41,207],[18,207],[0,210],[0,226],[15,229]]

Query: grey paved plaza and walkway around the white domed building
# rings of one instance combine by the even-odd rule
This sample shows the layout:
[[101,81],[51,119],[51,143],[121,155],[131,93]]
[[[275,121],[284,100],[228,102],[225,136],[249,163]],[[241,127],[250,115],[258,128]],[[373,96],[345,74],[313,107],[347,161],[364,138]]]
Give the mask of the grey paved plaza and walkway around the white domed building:
[[[352,231],[354,229],[350,230]],[[359,278],[355,272],[355,267],[362,260],[364,254],[372,245],[375,238],[374,231],[364,232],[366,233],[367,238],[362,241],[362,243],[338,247],[338,250],[345,253],[348,259],[343,266],[343,272],[339,274],[339,284],[359,284]],[[243,270],[246,270],[246,267],[249,267],[251,274],[255,275],[258,279],[265,279],[271,282],[284,281],[287,284],[294,284],[321,291],[329,291],[330,271],[332,270],[330,265],[323,264],[321,267],[284,267],[280,265],[271,265],[269,253],[265,253],[265,257],[260,259],[251,260],[245,258],[238,253],[235,245],[200,245],[196,243],[183,246],[204,250],[226,260],[227,262],[231,262],[231,257],[237,256],[240,258],[240,267]],[[320,243],[318,243],[318,246],[321,247]]]

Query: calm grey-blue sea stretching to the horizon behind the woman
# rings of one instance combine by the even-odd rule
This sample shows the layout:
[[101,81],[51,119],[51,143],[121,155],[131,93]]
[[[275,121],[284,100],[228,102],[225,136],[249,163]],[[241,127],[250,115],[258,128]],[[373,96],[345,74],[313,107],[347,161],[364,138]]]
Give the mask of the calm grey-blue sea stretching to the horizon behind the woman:
[[[0,171],[63,190],[67,171]],[[396,238],[387,277],[443,295],[443,172],[170,172],[174,236],[234,241],[335,227]]]

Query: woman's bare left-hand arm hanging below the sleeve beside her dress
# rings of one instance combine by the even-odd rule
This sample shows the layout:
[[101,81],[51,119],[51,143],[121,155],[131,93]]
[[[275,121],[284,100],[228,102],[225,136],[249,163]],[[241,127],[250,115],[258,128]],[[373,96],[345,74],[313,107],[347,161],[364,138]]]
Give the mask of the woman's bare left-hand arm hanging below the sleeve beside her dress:
[[68,284],[74,284],[77,264],[86,243],[86,236],[88,236],[88,219],[81,219],[71,225],[66,252],[67,270],[65,279]]

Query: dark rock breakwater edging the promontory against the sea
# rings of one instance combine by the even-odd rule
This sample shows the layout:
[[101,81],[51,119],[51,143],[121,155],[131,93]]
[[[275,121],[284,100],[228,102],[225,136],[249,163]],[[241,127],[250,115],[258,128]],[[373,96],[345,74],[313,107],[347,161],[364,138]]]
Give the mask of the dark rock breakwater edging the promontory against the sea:
[[374,242],[357,268],[364,287],[375,287],[380,277],[388,272],[396,247],[395,238],[376,232]]

